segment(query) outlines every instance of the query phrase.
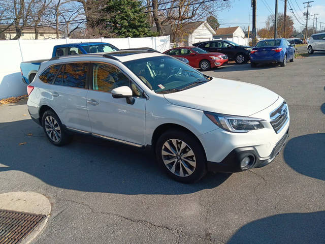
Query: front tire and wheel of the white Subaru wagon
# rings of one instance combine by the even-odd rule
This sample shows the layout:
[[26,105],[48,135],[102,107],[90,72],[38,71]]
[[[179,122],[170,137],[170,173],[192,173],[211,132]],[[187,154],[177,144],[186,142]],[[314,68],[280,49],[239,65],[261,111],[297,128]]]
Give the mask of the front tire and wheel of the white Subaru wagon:
[[165,132],[157,140],[155,153],[159,167],[174,180],[193,183],[207,173],[205,151],[198,139],[188,132]]

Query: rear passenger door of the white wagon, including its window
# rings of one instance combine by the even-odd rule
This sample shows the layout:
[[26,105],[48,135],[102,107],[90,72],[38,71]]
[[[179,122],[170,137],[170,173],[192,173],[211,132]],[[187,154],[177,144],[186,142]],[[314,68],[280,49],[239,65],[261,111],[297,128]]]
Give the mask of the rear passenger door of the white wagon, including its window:
[[63,125],[89,132],[86,79],[90,63],[63,64],[48,89],[49,105]]

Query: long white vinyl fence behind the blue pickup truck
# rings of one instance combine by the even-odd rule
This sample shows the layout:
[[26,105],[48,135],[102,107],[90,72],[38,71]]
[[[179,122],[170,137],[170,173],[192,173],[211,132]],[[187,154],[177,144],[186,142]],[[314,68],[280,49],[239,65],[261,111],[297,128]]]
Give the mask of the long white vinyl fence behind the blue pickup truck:
[[170,49],[170,36],[144,38],[51,39],[0,41],[0,99],[25,95],[20,63],[51,58],[55,45],[77,42],[107,42],[125,48],[151,47],[160,52]]

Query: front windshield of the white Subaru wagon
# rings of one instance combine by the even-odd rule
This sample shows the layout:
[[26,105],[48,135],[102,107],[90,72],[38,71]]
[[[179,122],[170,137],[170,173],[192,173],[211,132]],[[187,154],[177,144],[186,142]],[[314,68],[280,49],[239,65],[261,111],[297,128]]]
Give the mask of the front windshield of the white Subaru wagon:
[[210,77],[170,56],[155,56],[123,63],[156,93],[177,92]]

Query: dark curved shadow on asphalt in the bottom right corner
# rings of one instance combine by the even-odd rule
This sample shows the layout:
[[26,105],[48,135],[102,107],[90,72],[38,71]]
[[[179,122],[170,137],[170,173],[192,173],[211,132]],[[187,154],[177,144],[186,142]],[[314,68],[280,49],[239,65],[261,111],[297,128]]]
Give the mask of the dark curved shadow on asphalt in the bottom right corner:
[[228,241],[234,243],[324,243],[325,211],[292,213],[255,220]]

